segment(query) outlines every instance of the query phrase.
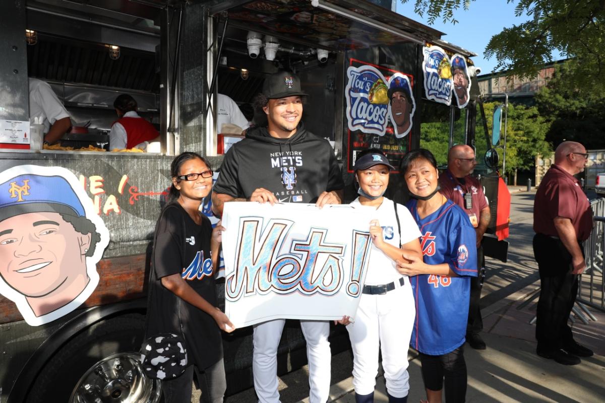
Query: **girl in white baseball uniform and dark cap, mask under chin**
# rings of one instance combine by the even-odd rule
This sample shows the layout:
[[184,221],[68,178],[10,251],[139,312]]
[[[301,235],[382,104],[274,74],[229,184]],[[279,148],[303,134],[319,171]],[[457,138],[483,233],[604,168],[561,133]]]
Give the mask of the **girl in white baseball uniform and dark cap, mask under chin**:
[[395,260],[401,259],[402,252],[422,259],[420,233],[407,208],[383,196],[393,166],[382,152],[361,152],[353,169],[359,197],[351,205],[372,209],[368,214],[372,251],[355,322],[350,323],[348,317],[339,321],[347,324],[353,347],[355,401],[374,401],[381,350],[388,401],[405,403],[410,390],[408,342],[414,322],[414,297],[410,280],[397,271]]

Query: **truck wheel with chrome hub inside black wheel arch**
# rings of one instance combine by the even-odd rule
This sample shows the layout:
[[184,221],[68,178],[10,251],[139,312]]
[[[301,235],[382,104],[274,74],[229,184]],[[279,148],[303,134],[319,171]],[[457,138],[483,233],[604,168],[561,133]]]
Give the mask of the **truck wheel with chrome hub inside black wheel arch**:
[[138,366],[144,327],[145,317],[132,314],[83,330],[44,366],[27,402],[159,402],[160,381]]

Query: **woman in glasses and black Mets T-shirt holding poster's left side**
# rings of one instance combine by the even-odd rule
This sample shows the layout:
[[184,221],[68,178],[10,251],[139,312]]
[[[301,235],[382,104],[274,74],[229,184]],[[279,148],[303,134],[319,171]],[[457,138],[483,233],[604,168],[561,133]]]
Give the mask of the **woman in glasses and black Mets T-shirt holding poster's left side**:
[[191,402],[194,373],[200,402],[222,402],[221,330],[232,332],[234,326],[216,307],[213,273],[224,227],[219,223],[213,230],[199,211],[212,190],[212,170],[200,155],[185,152],[172,161],[171,176],[171,201],[155,227],[146,334],[172,333],[185,340],[185,372],[162,382],[166,403]]

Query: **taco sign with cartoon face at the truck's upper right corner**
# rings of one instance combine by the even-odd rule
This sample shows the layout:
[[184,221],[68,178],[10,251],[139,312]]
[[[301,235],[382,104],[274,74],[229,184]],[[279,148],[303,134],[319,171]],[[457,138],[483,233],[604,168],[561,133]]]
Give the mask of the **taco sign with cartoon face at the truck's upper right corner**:
[[465,57],[461,54],[449,57],[445,50],[438,46],[424,47],[422,52],[424,91],[427,99],[450,105],[453,94],[458,108],[464,108],[468,104],[471,87]]

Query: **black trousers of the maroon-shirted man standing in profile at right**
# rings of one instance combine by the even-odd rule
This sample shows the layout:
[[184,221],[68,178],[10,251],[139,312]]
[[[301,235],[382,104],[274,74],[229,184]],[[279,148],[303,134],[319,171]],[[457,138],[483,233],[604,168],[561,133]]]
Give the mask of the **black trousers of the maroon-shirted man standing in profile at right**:
[[541,288],[535,324],[537,349],[552,352],[574,340],[567,320],[578,294],[578,275],[572,274],[571,254],[558,239],[535,234],[534,256]]

